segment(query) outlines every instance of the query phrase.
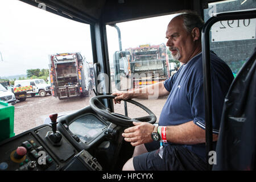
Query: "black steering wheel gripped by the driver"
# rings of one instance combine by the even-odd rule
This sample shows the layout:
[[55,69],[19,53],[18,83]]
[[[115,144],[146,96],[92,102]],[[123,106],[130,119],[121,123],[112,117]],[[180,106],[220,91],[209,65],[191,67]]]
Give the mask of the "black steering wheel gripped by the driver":
[[107,118],[110,122],[118,125],[118,126],[124,126],[124,127],[130,127],[134,126],[133,122],[148,122],[151,124],[154,124],[156,122],[156,116],[154,113],[152,113],[151,110],[149,110],[146,106],[139,104],[139,102],[133,101],[133,100],[126,100],[126,102],[130,102],[131,104],[134,104],[136,106],[141,107],[144,111],[148,113],[146,117],[139,117],[139,118],[130,118],[126,115],[118,114],[118,113],[112,113],[109,108],[107,108],[104,104],[101,103],[100,100],[102,99],[114,99],[116,96],[111,95],[102,95],[102,96],[95,96],[90,98],[90,107],[93,111],[95,111],[97,114],[102,115],[103,117]]

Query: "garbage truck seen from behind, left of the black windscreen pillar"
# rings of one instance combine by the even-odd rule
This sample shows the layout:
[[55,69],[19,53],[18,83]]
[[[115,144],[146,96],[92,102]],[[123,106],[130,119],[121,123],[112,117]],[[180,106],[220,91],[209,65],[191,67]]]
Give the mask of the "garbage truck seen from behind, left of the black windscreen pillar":
[[81,53],[56,53],[49,61],[52,96],[63,100],[90,95],[90,68]]

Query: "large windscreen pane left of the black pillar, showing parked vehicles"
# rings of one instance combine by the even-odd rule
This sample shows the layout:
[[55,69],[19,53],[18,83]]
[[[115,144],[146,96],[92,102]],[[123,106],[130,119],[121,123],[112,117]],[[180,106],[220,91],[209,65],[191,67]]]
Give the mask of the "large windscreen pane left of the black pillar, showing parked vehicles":
[[[14,85],[14,80],[28,80],[22,86],[29,89],[30,79],[42,79],[36,81],[40,86],[27,91],[25,101],[16,100],[14,104],[16,135],[49,123],[49,114],[60,116],[89,105],[89,98],[94,96],[89,24],[75,22],[16,0],[0,1],[0,19],[0,80],[9,80],[11,85]],[[55,62],[57,67],[51,70],[51,55],[57,53],[78,53],[79,64],[62,60],[67,65]],[[55,76],[65,75],[61,81],[65,82],[67,90],[59,90],[57,77],[50,75],[52,71],[56,71]],[[51,92],[53,85],[54,95]],[[61,100],[57,97],[59,94],[67,96],[67,93],[74,97],[63,97]]]

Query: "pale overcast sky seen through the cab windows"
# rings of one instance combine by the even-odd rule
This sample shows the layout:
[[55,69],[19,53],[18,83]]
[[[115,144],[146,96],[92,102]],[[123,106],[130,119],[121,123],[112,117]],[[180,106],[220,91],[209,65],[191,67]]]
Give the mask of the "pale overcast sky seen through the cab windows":
[[[118,23],[122,47],[166,43],[172,15]],[[107,26],[109,59],[119,50],[115,28]],[[0,77],[48,69],[48,55],[81,52],[92,62],[90,26],[48,13],[18,0],[0,1]],[[2,55],[2,57],[1,57]],[[3,60],[3,61],[2,61]]]

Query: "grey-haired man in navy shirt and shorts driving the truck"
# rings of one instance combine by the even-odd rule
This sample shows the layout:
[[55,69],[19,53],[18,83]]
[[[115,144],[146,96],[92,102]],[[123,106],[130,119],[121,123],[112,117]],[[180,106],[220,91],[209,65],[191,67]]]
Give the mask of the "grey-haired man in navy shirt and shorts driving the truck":
[[[170,78],[145,88],[113,93],[114,102],[168,96],[159,125],[134,122],[122,134],[135,146],[123,170],[206,170],[205,110],[201,30],[203,20],[193,11],[179,12],[167,26],[166,46],[183,65]],[[224,97],[233,80],[228,65],[210,53],[213,107],[213,150],[216,147]],[[163,147],[160,148],[163,144]],[[160,149],[159,149],[160,148]]]

